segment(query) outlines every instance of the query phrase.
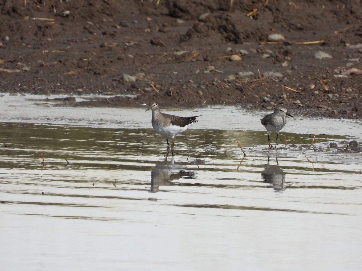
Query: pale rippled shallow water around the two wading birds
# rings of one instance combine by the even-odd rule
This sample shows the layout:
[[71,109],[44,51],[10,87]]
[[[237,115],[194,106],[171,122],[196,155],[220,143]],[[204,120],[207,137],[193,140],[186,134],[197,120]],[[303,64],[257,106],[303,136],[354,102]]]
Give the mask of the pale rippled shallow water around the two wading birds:
[[267,150],[262,112],[175,112],[204,118],[164,160],[144,109],[2,98],[4,270],[360,269],[358,121],[295,116]]

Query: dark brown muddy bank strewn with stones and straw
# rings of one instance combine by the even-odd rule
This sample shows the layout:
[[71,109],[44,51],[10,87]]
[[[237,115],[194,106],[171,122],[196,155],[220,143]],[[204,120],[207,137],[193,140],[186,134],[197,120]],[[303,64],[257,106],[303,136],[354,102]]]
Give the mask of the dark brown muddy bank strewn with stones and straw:
[[[157,2],[0,0],[1,92],[110,95],[63,102],[72,106],[283,104],[289,112],[362,117],[362,75],[341,77],[362,69],[354,46],[362,43],[361,0]],[[262,44],[273,33],[285,40]],[[310,41],[323,42],[295,44]],[[333,58],[316,59],[318,51]],[[241,60],[228,57],[235,54]]]

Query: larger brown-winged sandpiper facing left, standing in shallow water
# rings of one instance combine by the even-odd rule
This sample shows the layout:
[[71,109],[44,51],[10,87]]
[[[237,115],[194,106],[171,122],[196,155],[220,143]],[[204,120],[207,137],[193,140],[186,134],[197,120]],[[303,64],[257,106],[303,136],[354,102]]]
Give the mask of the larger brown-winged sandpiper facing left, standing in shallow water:
[[[174,115],[169,115],[162,113],[156,102],[150,102],[150,107],[146,110],[152,110],[152,127],[157,133],[166,138],[167,142],[167,155],[170,151],[170,144],[168,143],[168,137],[172,138],[172,156],[173,156],[173,138],[180,133],[183,133],[187,128],[197,122],[196,118],[199,116],[193,117],[179,117]],[[166,156],[167,156],[166,155]]]

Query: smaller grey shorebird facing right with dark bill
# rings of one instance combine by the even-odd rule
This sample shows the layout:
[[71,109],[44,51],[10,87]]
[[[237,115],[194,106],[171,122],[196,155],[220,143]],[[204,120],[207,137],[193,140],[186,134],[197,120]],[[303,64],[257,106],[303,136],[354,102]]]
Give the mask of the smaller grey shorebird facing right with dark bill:
[[275,138],[276,148],[279,131],[283,129],[285,124],[287,123],[287,120],[285,118],[286,115],[293,117],[287,112],[287,109],[285,109],[284,107],[277,107],[275,108],[273,113],[268,114],[261,119],[261,124],[265,127],[266,132],[268,133],[269,149],[274,149],[274,147],[270,145],[269,134],[270,132],[277,132],[277,137]]

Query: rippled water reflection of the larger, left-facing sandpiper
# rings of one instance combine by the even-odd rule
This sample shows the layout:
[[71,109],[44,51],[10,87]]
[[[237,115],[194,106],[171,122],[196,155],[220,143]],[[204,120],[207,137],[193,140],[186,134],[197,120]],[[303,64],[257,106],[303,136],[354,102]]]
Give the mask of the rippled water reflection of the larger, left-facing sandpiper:
[[173,159],[168,161],[167,158],[163,163],[156,164],[151,172],[151,193],[159,192],[160,185],[174,185],[174,180],[185,178],[194,179],[195,172],[185,170],[186,166],[174,164]]

